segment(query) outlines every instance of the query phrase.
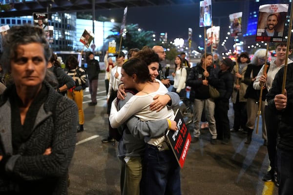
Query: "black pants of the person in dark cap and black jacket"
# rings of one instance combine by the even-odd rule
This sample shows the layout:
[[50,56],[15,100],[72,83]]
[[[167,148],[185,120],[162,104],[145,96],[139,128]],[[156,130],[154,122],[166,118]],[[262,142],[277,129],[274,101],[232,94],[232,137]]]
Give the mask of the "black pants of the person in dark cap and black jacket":
[[230,139],[230,123],[228,117],[229,100],[215,101],[215,120],[218,139]]

